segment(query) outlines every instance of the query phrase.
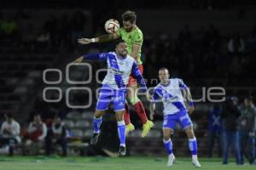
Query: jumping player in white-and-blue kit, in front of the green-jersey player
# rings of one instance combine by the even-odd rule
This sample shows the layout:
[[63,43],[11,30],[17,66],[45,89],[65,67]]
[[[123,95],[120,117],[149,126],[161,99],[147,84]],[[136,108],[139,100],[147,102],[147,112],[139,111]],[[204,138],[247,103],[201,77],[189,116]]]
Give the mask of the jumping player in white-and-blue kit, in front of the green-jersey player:
[[116,45],[115,53],[88,54],[74,61],[75,63],[80,63],[83,59],[100,59],[108,63],[108,73],[102,82],[99,99],[96,104],[93,120],[94,134],[90,139],[90,144],[97,143],[102,124],[102,115],[108,110],[108,105],[112,102],[118,124],[119,156],[125,156],[125,122],[123,113],[125,111],[126,85],[129,75],[136,77],[143,91],[147,91],[146,83],[138,70],[136,60],[127,53],[127,44],[120,40]]

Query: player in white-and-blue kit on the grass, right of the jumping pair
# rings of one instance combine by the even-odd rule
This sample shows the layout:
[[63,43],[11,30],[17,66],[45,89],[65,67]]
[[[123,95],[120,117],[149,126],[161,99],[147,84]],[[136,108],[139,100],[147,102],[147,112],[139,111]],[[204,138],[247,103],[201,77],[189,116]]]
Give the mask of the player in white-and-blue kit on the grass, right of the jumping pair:
[[[169,77],[169,71],[166,68],[161,68],[159,71],[160,83],[154,88],[153,102],[150,105],[151,116],[153,116],[157,99],[160,99],[164,104],[163,140],[168,154],[167,166],[172,166],[172,163],[175,160],[175,156],[172,153],[171,134],[174,133],[174,128],[178,122],[189,138],[192,164],[195,167],[201,167],[201,164],[197,160],[197,142],[195,133],[189,118],[189,114],[194,111],[189,88],[181,79],[169,79]],[[189,114],[186,105],[189,105]]]

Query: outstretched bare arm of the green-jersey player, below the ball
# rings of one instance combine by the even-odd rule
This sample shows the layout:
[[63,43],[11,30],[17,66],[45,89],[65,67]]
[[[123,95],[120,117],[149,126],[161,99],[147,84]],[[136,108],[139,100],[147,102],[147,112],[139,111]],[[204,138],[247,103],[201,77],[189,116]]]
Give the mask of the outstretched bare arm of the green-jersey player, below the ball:
[[117,33],[112,33],[112,34],[105,34],[100,37],[93,37],[93,38],[86,38],[82,37],[81,39],[78,39],[78,42],[80,44],[89,44],[92,42],[109,42],[115,39],[118,39],[120,36]]

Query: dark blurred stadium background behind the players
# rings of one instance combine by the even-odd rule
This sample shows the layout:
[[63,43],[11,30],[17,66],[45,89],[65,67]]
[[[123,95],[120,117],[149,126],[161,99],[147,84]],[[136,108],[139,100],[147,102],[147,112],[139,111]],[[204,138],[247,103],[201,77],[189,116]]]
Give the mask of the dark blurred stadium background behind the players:
[[[253,0],[115,0],[111,3],[100,0],[23,0],[22,3],[2,0],[0,113],[1,122],[13,115],[15,121],[20,123],[20,143],[15,146],[15,154],[32,154],[29,149],[25,149],[24,144],[29,145],[27,140],[32,137],[28,126],[33,116],[38,114],[48,127],[48,134],[44,136],[46,145],[52,145],[47,141],[50,142],[49,138],[55,134],[49,133],[49,130],[58,124],[59,120],[55,120],[55,116],[59,116],[61,122],[65,123],[63,138],[65,137],[66,142],[61,143],[61,146],[67,147],[68,155],[109,155],[108,151],[117,151],[119,141],[113,114],[104,116],[99,144],[96,147],[87,144],[93,133],[96,88],[101,87],[101,84],[96,82],[95,74],[90,83],[71,84],[66,80],[65,70],[67,64],[81,54],[112,51],[114,42],[83,46],[78,44],[77,39],[105,34],[106,20],[113,18],[121,24],[121,14],[131,9],[137,13],[137,26],[143,31],[143,76],[146,79],[157,79],[158,69],[165,66],[170,70],[172,77],[183,78],[194,99],[203,98],[211,87],[224,88],[227,99],[229,96],[237,98],[237,107],[241,108],[241,112],[231,118],[232,111],[225,107],[229,101],[212,103],[205,99],[195,103],[195,112],[191,118],[195,124],[199,156],[222,156],[223,131],[224,127],[227,127],[226,130],[242,131],[246,134],[247,138],[241,138],[241,150],[252,147],[253,149],[249,150],[254,150],[254,157],[247,153],[248,150],[244,153],[250,162],[253,161],[256,113],[252,110],[250,116],[243,114],[247,108],[254,107],[253,101],[256,97],[255,7],[256,2]],[[93,73],[106,68],[104,63],[90,64],[93,65]],[[62,71],[61,76],[56,71],[47,71],[47,81],[61,80],[54,84],[45,84],[45,69]],[[83,66],[71,66],[70,80],[86,80],[89,77],[87,70]],[[99,78],[102,79],[104,74],[104,71],[101,72]],[[157,81],[148,81],[148,87],[154,87],[156,84]],[[46,87],[51,89],[44,91]],[[72,105],[86,105],[89,102],[89,93],[84,90],[72,90],[66,99],[67,89],[72,87],[93,89],[90,109],[67,107],[67,100]],[[56,88],[61,89],[61,92]],[[45,102],[43,91],[47,99],[58,102]],[[234,101],[234,98],[230,100]],[[145,99],[143,101],[148,111],[149,103]],[[162,106],[158,105],[154,128],[147,138],[141,139],[142,124],[131,108],[131,122],[137,127],[127,138],[131,156],[165,156],[161,109]],[[111,110],[109,112],[112,113]],[[244,119],[246,125],[248,120],[254,121],[247,125],[249,127],[242,128]],[[224,123],[224,120],[236,123],[229,129],[229,123]],[[190,155],[182,129],[177,129],[172,140],[177,156]],[[33,154],[52,154],[45,151],[44,144],[39,146],[41,152],[39,150],[39,153]],[[4,146],[2,144],[2,148]],[[58,153],[58,150],[55,153]]]

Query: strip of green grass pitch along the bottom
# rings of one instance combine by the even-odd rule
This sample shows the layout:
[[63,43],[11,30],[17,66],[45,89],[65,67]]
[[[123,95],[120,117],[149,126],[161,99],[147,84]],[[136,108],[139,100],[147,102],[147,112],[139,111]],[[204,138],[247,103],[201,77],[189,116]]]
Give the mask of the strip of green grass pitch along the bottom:
[[[256,169],[248,164],[236,166],[234,160],[229,165],[222,165],[220,159],[200,159],[197,169],[241,170]],[[189,170],[196,169],[189,158],[179,158],[172,167],[166,167],[165,157],[79,157],[61,158],[58,156],[0,156],[0,170]]]

